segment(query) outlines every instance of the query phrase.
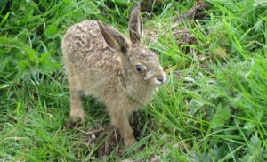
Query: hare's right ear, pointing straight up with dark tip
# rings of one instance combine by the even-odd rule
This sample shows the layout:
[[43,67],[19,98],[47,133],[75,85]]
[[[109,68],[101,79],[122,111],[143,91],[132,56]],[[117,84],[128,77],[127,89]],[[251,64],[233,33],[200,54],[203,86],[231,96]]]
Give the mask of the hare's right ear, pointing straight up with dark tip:
[[142,39],[142,19],[140,8],[140,3],[134,5],[129,20],[130,39],[134,44],[140,44]]

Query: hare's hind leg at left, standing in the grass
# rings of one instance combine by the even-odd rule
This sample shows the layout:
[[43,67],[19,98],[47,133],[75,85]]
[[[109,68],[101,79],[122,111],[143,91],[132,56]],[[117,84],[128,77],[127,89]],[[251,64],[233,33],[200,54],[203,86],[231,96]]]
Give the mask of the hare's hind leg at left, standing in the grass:
[[75,76],[69,75],[69,91],[70,91],[70,117],[73,120],[85,120],[85,110],[79,93],[79,83]]

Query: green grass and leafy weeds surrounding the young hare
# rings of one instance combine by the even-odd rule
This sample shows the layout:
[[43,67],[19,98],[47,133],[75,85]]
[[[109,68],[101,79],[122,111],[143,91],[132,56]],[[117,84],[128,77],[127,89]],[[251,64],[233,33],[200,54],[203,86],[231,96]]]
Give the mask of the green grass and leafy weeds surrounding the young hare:
[[[60,45],[66,29],[85,19],[103,20],[126,34],[134,3],[5,2],[0,4],[1,160],[267,160],[267,2],[211,0],[205,19],[180,24],[170,22],[193,1],[169,0],[144,14],[151,33],[144,42],[166,69],[174,69],[147,109],[134,115],[140,141],[127,150],[121,150],[121,139],[117,143],[99,133],[91,143],[88,132],[109,122],[104,106],[92,99],[85,98],[85,124],[69,126]],[[174,30],[188,31],[191,43]],[[115,144],[103,157],[105,142]]]

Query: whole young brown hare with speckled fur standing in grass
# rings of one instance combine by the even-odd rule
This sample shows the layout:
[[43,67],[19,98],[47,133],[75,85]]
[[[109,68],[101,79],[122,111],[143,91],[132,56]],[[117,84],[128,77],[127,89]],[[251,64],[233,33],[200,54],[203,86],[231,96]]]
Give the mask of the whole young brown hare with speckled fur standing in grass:
[[128,116],[166,81],[157,54],[142,45],[140,4],[131,13],[129,33],[130,40],[101,21],[85,20],[68,29],[61,45],[69,73],[70,116],[85,119],[80,92],[103,101],[126,147],[136,142]]

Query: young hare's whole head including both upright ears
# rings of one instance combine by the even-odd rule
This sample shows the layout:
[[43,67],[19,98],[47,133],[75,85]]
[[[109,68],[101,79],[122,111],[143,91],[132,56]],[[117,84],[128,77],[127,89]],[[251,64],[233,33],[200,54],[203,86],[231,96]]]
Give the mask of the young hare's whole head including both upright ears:
[[166,81],[166,75],[158,61],[158,55],[142,45],[142,19],[140,4],[134,6],[129,20],[130,40],[116,29],[98,21],[106,43],[115,50],[122,60],[122,67],[128,79],[139,85],[158,86]]

